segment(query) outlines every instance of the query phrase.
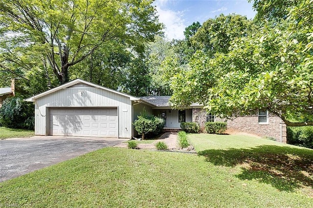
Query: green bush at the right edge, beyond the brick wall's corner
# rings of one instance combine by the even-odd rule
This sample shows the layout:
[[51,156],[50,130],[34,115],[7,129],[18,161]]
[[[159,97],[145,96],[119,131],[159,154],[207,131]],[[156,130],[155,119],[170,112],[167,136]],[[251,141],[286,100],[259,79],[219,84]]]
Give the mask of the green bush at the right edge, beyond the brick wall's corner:
[[287,127],[287,143],[313,149],[313,126]]

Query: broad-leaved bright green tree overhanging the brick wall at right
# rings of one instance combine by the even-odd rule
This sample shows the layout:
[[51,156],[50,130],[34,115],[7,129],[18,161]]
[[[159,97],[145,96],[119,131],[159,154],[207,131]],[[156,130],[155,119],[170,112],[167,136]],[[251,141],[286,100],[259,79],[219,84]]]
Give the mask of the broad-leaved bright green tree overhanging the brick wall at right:
[[199,102],[221,117],[268,109],[289,126],[313,125],[312,2],[285,8],[288,21],[264,22],[213,58],[197,52],[173,78],[172,102]]

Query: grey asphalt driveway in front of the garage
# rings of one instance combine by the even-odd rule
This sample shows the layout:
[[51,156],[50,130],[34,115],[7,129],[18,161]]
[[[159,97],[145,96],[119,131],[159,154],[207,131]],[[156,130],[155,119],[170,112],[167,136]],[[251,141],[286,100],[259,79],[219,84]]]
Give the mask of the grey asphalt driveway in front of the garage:
[[56,136],[0,140],[0,182],[124,141]]

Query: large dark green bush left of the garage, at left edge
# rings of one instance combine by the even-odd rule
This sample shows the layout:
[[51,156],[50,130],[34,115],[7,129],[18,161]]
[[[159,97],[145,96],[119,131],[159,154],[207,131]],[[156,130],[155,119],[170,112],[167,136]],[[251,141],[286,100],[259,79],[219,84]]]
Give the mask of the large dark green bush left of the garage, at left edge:
[[4,100],[0,108],[0,125],[8,128],[34,129],[34,105],[23,101],[22,97]]

